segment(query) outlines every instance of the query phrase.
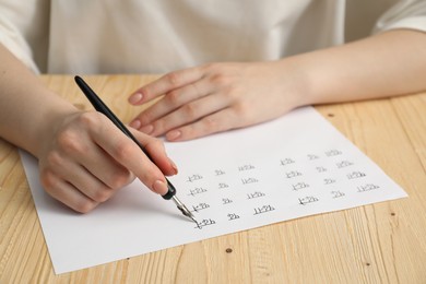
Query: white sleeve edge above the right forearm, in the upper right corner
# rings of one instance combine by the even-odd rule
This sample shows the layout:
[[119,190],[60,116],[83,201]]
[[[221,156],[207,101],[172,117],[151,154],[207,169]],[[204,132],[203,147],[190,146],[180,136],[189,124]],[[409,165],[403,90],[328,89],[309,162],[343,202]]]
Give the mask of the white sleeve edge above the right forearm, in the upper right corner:
[[394,28],[411,28],[426,32],[426,1],[399,1],[379,19],[374,33]]

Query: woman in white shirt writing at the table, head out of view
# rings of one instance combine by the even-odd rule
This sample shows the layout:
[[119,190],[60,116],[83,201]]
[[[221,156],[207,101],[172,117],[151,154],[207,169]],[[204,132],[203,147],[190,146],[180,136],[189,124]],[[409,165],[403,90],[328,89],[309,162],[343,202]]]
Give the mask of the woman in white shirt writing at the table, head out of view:
[[[134,176],[166,192],[164,175],[177,168],[152,137],[182,141],[304,105],[425,90],[426,2],[398,2],[372,36],[353,43],[344,43],[346,4],[3,1],[1,137],[38,157],[48,193],[88,212]],[[156,165],[103,116],[52,94],[38,72],[169,72],[129,97],[139,105],[165,95],[131,122]]]

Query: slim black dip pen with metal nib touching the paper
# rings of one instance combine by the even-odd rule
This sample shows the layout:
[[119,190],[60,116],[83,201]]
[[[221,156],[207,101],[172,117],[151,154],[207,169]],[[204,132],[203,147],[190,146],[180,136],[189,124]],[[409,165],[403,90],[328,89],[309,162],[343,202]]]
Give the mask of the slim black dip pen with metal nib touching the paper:
[[[80,76],[75,76],[75,83],[79,85],[81,91],[83,91],[84,95],[87,97],[87,99],[91,102],[93,107],[104,114],[107,118],[109,118],[113,123],[118,127],[126,135],[128,135],[131,140],[133,140],[134,143],[138,144],[138,146],[142,150],[142,152],[151,159],[150,154],[143,149],[143,146],[139,143],[139,141],[132,135],[132,133],[125,127],[125,125],[114,115],[114,113],[102,102],[102,99],[96,95],[96,93],[87,85],[86,82],[84,82],[83,79]],[[187,209],[187,206],[176,197],[176,189],[171,185],[170,181],[166,178],[167,181],[167,188],[168,191],[166,194],[163,196],[165,200],[173,200],[177,208],[182,212],[182,214],[187,217],[190,217],[193,222],[198,224],[192,213]]]

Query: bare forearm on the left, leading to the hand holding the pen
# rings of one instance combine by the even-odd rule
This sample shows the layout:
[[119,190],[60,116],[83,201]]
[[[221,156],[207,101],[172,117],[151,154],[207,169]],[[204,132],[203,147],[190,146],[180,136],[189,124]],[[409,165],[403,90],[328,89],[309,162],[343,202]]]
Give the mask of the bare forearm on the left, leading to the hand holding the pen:
[[75,111],[0,44],[0,137],[37,154],[49,122]]

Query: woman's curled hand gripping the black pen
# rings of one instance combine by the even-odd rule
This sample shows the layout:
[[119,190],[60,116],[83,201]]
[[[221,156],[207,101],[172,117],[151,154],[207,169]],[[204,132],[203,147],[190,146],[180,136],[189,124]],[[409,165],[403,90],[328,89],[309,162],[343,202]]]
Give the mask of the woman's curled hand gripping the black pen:
[[111,198],[134,177],[165,194],[164,175],[176,174],[175,164],[159,140],[133,132],[156,165],[99,113],[75,111],[52,122],[50,137],[37,153],[45,190],[81,213]]

